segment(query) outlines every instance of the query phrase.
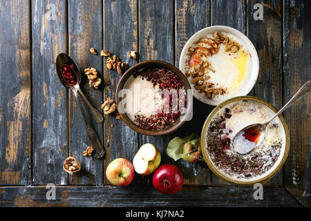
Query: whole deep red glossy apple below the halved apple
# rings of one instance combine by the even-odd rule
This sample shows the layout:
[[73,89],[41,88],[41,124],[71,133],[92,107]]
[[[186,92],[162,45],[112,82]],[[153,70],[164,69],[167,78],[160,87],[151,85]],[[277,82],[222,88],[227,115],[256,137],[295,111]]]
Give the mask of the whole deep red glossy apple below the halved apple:
[[164,164],[153,174],[152,183],[160,193],[173,194],[182,188],[184,177],[177,166]]

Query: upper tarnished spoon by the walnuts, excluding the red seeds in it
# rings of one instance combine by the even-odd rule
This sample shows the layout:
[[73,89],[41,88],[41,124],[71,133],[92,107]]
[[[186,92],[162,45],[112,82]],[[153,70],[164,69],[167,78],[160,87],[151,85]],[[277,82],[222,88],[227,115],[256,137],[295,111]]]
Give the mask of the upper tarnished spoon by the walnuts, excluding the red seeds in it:
[[[73,64],[73,68],[70,68],[68,64]],[[64,79],[64,77],[62,76],[63,66],[66,66],[77,77],[77,84],[75,85],[68,84],[68,82]],[[79,68],[77,67],[77,64],[75,64],[75,61],[73,61],[73,59],[71,59],[68,55],[61,53],[57,56],[56,68],[57,68],[57,74],[59,75],[59,80],[62,81],[62,84],[66,85],[67,88],[74,86],[79,92],[79,94],[82,96],[82,98],[84,99],[84,102],[86,103],[88,108],[90,108],[91,114],[93,115],[95,121],[97,123],[102,123],[104,121],[104,117],[102,116],[100,111],[97,111],[97,109],[93,107],[93,105],[88,101],[88,99],[86,98],[86,96],[84,95],[84,93],[82,92],[79,86],[79,84],[81,84],[82,76],[81,76],[81,73],[79,72]]]

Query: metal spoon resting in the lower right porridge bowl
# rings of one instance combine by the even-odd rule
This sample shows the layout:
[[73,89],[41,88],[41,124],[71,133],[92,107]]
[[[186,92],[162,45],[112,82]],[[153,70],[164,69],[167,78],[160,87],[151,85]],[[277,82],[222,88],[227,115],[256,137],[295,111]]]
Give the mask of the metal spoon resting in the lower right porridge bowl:
[[245,126],[241,131],[238,131],[233,138],[232,146],[236,153],[246,155],[252,153],[258,148],[258,146],[263,141],[265,137],[265,129],[267,125],[272,122],[272,120],[279,116],[283,111],[288,109],[294,102],[298,101],[304,95],[307,95],[311,90],[311,81],[306,82],[301,86],[301,88],[296,92],[296,94],[290,99],[290,101],[281,108],[281,110],[271,117],[267,122],[263,124],[250,124]]

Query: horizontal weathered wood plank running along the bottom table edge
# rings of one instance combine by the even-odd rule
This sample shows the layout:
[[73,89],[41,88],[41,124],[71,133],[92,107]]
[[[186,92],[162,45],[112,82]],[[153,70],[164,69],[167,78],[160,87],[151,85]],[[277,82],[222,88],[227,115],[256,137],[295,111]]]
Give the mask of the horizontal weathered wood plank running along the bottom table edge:
[[265,187],[263,200],[254,200],[252,187],[183,187],[174,195],[153,188],[57,186],[55,200],[42,187],[0,187],[0,206],[300,206],[283,188]]

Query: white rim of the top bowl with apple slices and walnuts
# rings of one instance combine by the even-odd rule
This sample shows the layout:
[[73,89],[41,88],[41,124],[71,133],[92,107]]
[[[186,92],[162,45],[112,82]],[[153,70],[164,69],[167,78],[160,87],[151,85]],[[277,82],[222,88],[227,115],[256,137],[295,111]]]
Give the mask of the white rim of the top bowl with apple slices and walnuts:
[[[215,30],[213,30],[213,29],[215,29]],[[198,30],[198,32],[194,33],[194,35],[192,35],[187,40],[185,46],[182,48],[182,52],[180,53],[178,68],[183,73],[184,70],[182,68],[183,67],[183,65],[182,65],[182,62],[183,62],[182,60],[183,59],[182,58],[185,57],[185,54],[187,53],[187,48],[189,48],[191,43],[193,43],[195,41],[195,39],[198,37],[198,35],[200,35],[202,32],[210,32],[209,30],[213,30],[213,32],[215,32],[215,31],[230,32],[232,35],[238,37],[239,39],[241,37],[243,37],[243,41],[245,41],[245,44],[243,44],[243,45],[247,46],[247,49],[249,50],[249,52],[252,51],[252,64],[253,64],[253,67],[252,67],[251,77],[250,77],[249,81],[247,82],[247,86],[249,88],[248,88],[248,90],[245,90],[245,93],[240,94],[240,95],[236,95],[236,96],[246,96],[252,90],[252,88],[254,88],[254,85],[256,84],[256,81],[258,79],[258,74],[259,74],[259,58],[258,58],[258,52],[257,52],[254,44],[252,43],[252,41],[250,41],[250,39],[243,32],[237,30],[236,28],[232,28],[232,27],[229,27],[229,26],[209,26],[207,28],[202,28],[201,30]],[[191,88],[194,90],[192,85],[191,85]],[[225,100],[232,98],[232,97],[229,97],[229,98],[225,97],[222,101],[215,101],[214,99],[201,98],[201,97],[199,97],[199,93],[196,90],[194,90],[194,97],[196,97],[196,99],[198,99],[200,102],[205,103],[205,104],[209,104],[209,105],[212,105],[212,106],[217,106],[218,104],[220,104],[222,102],[225,102]]]

